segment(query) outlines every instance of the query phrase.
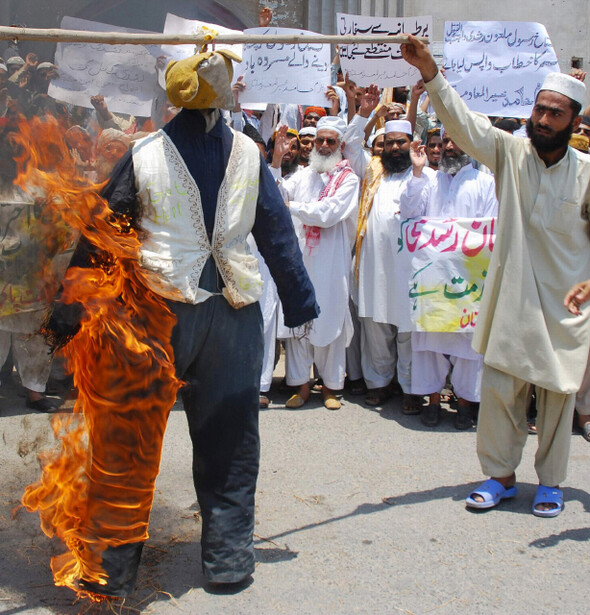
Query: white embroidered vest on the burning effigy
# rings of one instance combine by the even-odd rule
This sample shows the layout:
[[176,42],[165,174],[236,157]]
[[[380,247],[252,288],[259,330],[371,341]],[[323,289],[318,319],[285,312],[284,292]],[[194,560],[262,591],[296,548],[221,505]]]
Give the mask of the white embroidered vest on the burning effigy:
[[211,242],[199,189],[168,135],[159,130],[133,147],[140,224],[146,231],[141,266],[150,288],[163,297],[198,303],[199,279],[211,255],[225,282],[223,294],[234,308],[262,294],[258,261],[246,243],[256,216],[260,153],[249,137],[233,134]]

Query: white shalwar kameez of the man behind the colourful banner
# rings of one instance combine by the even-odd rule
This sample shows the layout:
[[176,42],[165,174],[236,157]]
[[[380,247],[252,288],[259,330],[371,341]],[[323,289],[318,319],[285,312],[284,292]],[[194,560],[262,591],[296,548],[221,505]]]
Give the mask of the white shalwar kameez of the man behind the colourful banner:
[[[468,164],[456,175],[437,171],[434,177],[414,175],[401,195],[402,218],[485,218],[498,215],[494,179]],[[473,350],[471,333],[412,333],[412,393],[429,395],[451,384],[457,397],[478,402],[483,357]]]

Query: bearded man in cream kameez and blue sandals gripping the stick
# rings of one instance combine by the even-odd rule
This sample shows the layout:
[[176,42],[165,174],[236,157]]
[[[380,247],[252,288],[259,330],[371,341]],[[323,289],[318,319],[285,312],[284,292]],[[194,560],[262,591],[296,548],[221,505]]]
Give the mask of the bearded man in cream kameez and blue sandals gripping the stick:
[[555,517],[563,510],[559,484],[566,477],[575,392],[590,341],[588,306],[577,315],[562,305],[568,289],[590,277],[590,161],[568,147],[586,88],[573,77],[549,73],[527,121],[529,139],[519,139],[469,111],[423,43],[410,36],[401,50],[420,70],[452,139],[495,174],[500,203],[473,340],[484,355],[477,451],[492,478],[466,504],[492,508],[516,495],[527,398],[535,385],[539,487],[532,512]]

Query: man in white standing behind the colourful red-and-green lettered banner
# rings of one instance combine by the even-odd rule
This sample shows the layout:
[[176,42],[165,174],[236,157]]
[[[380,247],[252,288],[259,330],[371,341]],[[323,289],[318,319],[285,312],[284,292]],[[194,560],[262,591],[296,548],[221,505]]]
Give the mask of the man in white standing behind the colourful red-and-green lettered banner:
[[[494,178],[478,171],[471,158],[443,133],[442,155],[438,171],[427,179],[422,173],[427,159],[426,147],[412,143],[412,178],[401,196],[402,218],[486,218],[498,215]],[[455,429],[468,429],[471,404],[481,397],[480,354],[471,348],[469,332],[412,333],[412,393],[429,395],[430,402],[422,411],[422,423],[438,425],[441,418],[440,391],[451,366],[451,383],[459,398]]]

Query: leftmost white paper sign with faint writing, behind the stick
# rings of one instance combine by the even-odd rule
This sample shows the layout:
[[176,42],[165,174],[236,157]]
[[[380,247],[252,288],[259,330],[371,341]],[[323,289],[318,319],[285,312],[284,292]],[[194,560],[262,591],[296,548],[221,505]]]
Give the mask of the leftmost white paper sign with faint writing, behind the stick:
[[[143,32],[96,21],[64,17],[65,30]],[[49,85],[52,98],[91,109],[90,97],[102,94],[110,111],[149,117],[157,83],[154,54],[159,48],[106,43],[59,43],[59,77]]]

